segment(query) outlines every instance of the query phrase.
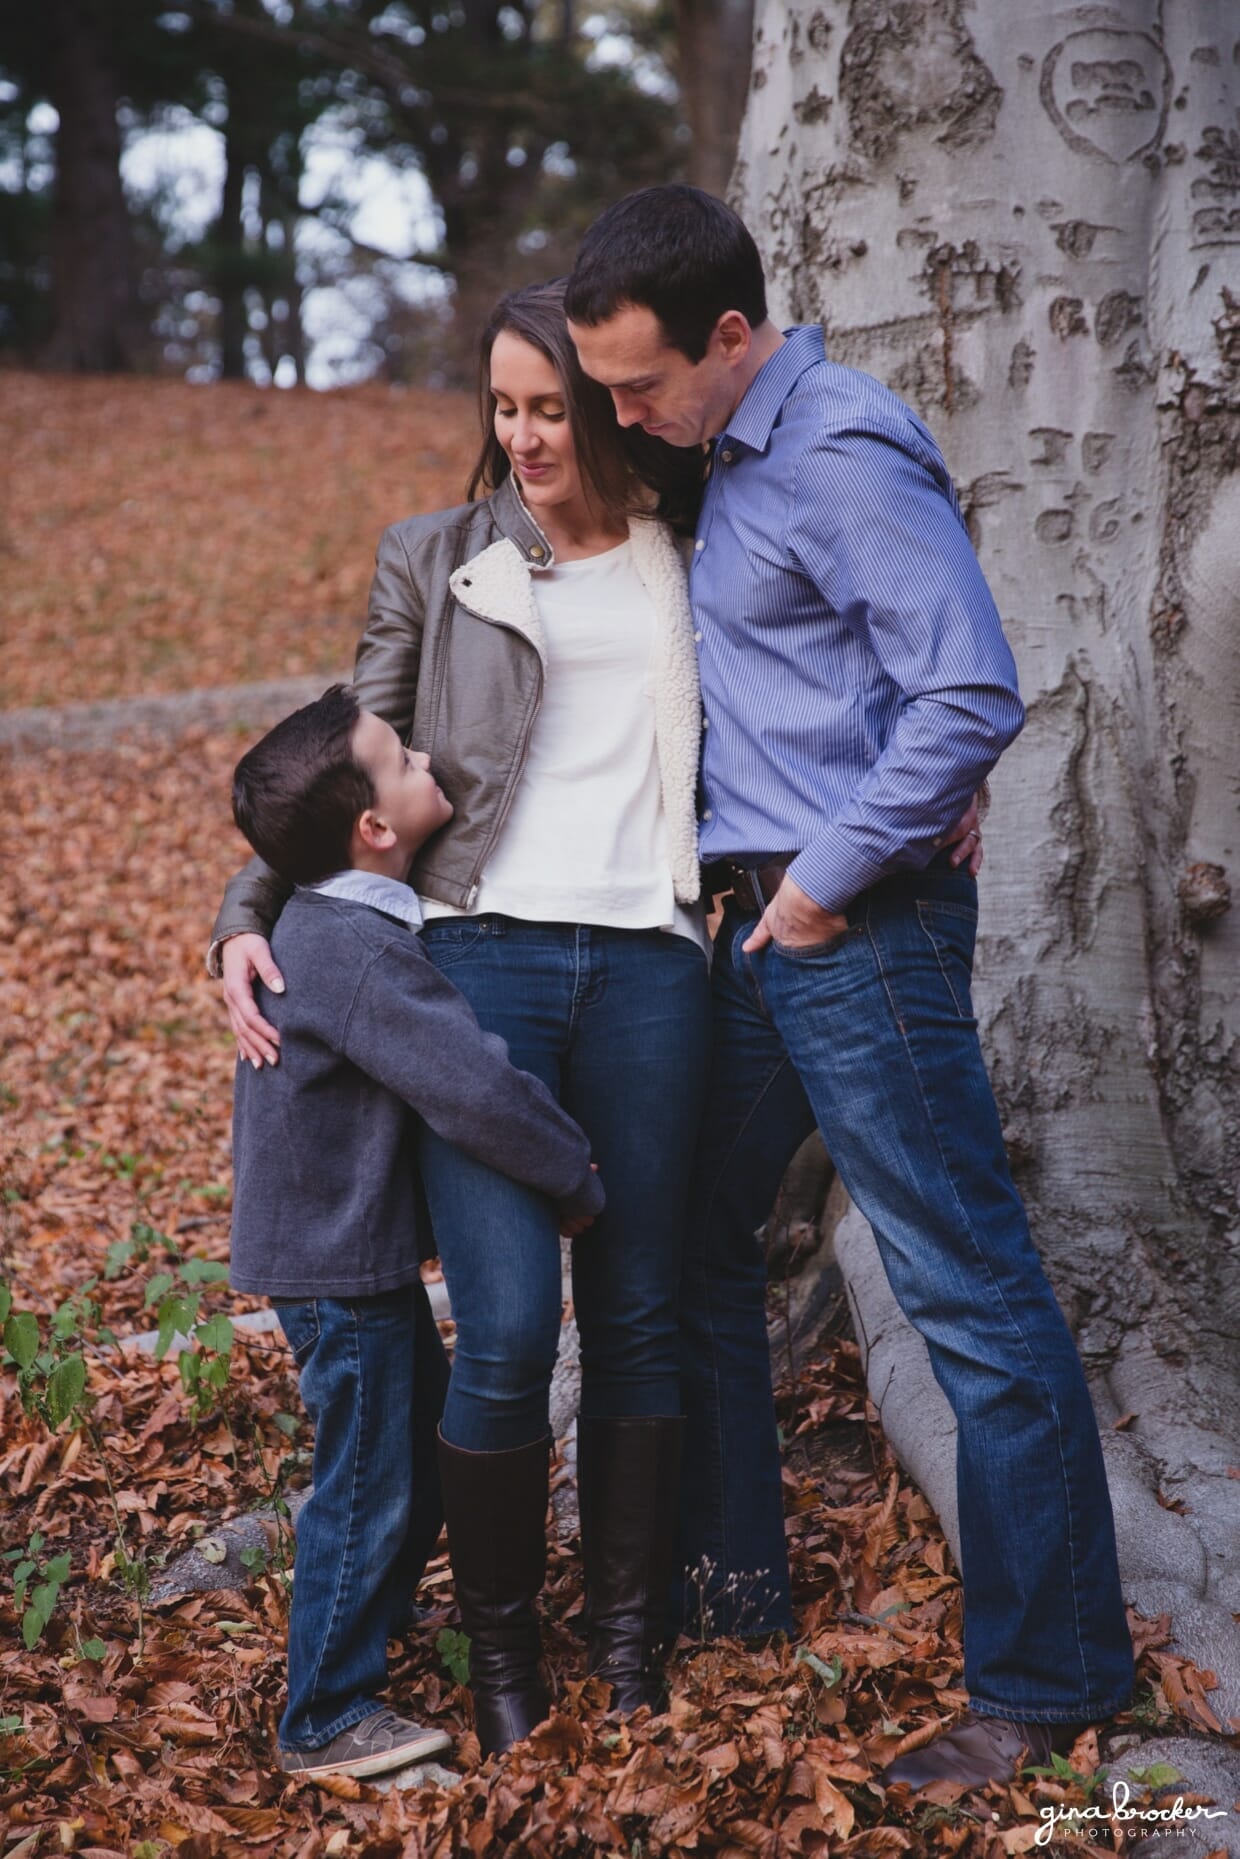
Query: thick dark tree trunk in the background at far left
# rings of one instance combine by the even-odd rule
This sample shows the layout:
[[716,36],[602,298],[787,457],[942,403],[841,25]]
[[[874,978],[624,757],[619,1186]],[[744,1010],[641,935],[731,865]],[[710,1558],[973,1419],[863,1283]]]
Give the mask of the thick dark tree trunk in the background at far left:
[[113,372],[141,351],[138,264],[121,188],[119,80],[91,0],[46,0],[48,97],[59,115],[52,212],[50,368]]

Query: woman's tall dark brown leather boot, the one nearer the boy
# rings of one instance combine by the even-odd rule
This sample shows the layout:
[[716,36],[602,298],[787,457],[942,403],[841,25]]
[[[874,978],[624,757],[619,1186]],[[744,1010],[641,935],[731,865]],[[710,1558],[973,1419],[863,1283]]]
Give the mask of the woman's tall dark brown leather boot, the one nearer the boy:
[[465,1452],[439,1435],[439,1476],[468,1684],[483,1755],[502,1753],[550,1708],[534,1602],[547,1575],[550,1439]]

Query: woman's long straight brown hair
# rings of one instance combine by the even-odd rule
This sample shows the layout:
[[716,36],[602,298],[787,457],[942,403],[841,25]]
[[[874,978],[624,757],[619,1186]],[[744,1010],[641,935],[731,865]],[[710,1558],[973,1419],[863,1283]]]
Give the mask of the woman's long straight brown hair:
[[576,359],[563,314],[565,279],[550,284],[528,284],[500,297],[481,335],[478,403],[485,439],[468,480],[470,502],[496,491],[511,463],[495,431],[491,398],[491,349],[495,338],[508,331],[521,336],[556,370],[569,415],[576,463],[586,494],[599,513],[623,528],[630,517],[662,517],[677,530],[690,532],[697,521],[697,506],[706,472],[701,446],[669,446],[643,433],[640,426],[623,428],[615,418],[612,396],[599,387]]

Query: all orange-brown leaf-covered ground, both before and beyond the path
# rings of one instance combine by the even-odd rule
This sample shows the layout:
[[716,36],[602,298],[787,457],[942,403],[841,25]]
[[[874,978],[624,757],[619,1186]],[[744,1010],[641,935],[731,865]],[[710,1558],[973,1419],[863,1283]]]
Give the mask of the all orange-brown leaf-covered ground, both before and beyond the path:
[[[15,413],[9,387],[37,431]],[[210,680],[225,682],[346,662],[374,534],[411,506],[418,446],[446,444],[461,415],[459,402],[437,416],[439,403],[372,390],[338,403],[247,390],[216,402],[180,387],[24,377],[6,377],[0,398],[7,463],[17,450],[32,478],[45,474],[35,491],[26,468],[15,470],[9,487],[0,567],[24,602],[20,651],[7,649],[6,632],[11,703],[191,684],[204,664]],[[409,428],[416,407],[426,439]],[[283,435],[262,459],[238,454],[245,420],[255,454]],[[121,435],[123,424],[132,431]],[[333,433],[348,442],[333,450]],[[450,476],[433,496],[455,494],[455,467]],[[128,521],[117,517],[119,485],[128,494],[138,480],[141,498],[167,504],[141,517],[152,524],[149,550],[119,539]],[[197,539],[178,552],[169,491],[193,481],[201,504],[182,526]],[[275,483],[301,483],[301,502],[283,502],[281,491],[283,515],[264,504],[264,521],[251,522]],[[351,511],[338,532],[336,506]],[[48,509],[59,515],[39,567],[24,550]],[[115,550],[99,571],[87,532]],[[325,573],[355,580],[336,600],[310,576],[297,599],[309,589],[320,604],[297,610],[284,582],[314,560],[320,534],[329,537]],[[169,589],[190,556],[199,580],[184,576],[180,606]],[[93,645],[76,621],[56,632],[67,612],[61,571],[69,610],[99,621]],[[143,604],[156,580],[164,593]],[[335,630],[320,619],[305,636],[286,628],[271,656],[270,615],[310,610],[348,617]],[[556,1550],[547,1593],[558,1714],[498,1764],[478,1762],[467,1697],[437,1656],[450,1582],[442,1563],[431,1571],[429,1615],[394,1649],[390,1697],[450,1727],[461,1781],[416,1794],[297,1786],[273,1772],[286,1619],[279,1565],[255,1569],[245,1595],[139,1608],[132,1588],[143,1571],[158,1573],[201,1524],[303,1480],[310,1444],[277,1340],[238,1337],[227,1392],[201,1418],[173,1361],[97,1342],[100,1327],[151,1327],[147,1288],[173,1257],[227,1255],[232,1045],[203,944],[242,850],[227,824],[242,747],[219,732],[0,757],[0,1277],[45,1327],[71,1296],[86,1290],[97,1305],[86,1314],[87,1426],[50,1437],[24,1415],[13,1374],[0,1372],[0,1549],[24,1550],[37,1536],[43,1565],[71,1558],[32,1649],[13,1608],[13,1565],[0,1565],[0,1837],[9,1855],[1000,1859],[1030,1850],[1037,1807],[1084,1805],[1088,1781],[965,1798],[941,1788],[917,1803],[876,1781],[892,1751],[924,1740],[961,1703],[959,1589],[933,1517],[874,1426],[842,1335],[825,1337],[822,1361],[781,1394],[799,1638],[749,1651],[682,1645],[662,1718],[617,1725],[599,1688],[582,1684],[571,1545]],[[204,1298],[208,1311],[244,1303],[218,1285]],[[1160,1649],[1158,1625],[1138,1634],[1134,1721],[1210,1731],[1208,1684]],[[1073,1760],[1080,1775],[1097,1770],[1091,1738]]]

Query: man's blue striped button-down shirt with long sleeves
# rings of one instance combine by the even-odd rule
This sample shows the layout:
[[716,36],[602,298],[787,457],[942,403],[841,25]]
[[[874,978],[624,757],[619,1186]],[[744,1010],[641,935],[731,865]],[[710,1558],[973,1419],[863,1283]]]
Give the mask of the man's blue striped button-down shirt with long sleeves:
[[798,851],[829,911],[924,866],[1024,708],[939,448],[818,327],[716,441],[690,593],[703,859]]

